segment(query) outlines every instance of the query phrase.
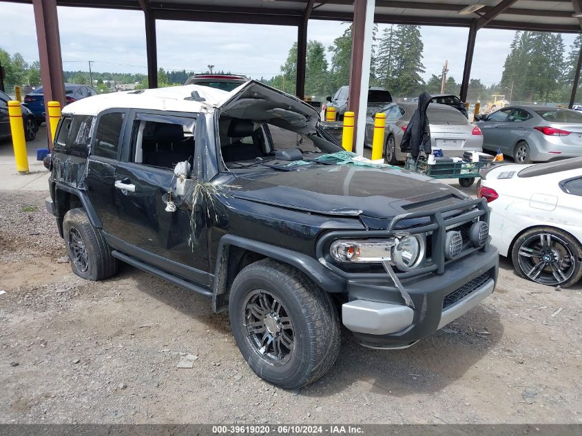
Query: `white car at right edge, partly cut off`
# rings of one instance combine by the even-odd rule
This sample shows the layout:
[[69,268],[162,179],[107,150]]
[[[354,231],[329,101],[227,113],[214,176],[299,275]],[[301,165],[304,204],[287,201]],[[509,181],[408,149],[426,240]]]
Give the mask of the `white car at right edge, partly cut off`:
[[477,196],[491,208],[490,235],[519,276],[569,287],[582,277],[582,158],[498,165]]

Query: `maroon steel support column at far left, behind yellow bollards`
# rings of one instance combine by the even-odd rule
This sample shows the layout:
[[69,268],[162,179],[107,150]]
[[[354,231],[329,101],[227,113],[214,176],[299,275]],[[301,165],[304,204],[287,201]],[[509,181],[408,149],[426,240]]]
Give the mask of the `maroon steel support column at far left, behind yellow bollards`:
[[[37,25],[45,113],[48,114],[46,104],[49,101],[58,101],[61,107],[65,107],[65,78],[61,58],[59,16],[56,13],[56,0],[32,0],[32,6],[34,22]],[[47,138],[50,138],[50,123],[47,122],[46,127]],[[52,149],[50,141],[49,148]]]

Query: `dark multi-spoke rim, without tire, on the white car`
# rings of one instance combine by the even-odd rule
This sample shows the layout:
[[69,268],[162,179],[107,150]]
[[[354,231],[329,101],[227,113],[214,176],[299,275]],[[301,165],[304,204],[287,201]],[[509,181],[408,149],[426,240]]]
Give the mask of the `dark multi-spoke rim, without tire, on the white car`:
[[521,271],[541,284],[561,284],[572,277],[576,268],[576,256],[568,242],[552,233],[526,239],[518,256]]

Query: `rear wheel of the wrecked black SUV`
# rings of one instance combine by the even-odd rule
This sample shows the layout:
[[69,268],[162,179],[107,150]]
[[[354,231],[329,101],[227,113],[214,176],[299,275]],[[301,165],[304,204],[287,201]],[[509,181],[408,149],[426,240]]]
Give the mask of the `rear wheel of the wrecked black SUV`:
[[105,238],[91,225],[83,209],[71,209],[63,219],[63,236],[73,272],[86,280],[104,280],[117,273],[117,259]]

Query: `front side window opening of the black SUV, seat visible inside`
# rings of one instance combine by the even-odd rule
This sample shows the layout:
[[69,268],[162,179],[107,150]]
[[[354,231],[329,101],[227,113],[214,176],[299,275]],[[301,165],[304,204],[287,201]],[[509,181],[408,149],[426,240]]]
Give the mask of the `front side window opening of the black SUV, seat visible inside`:
[[134,121],[132,149],[129,161],[151,167],[174,169],[177,163],[188,160],[194,165],[193,118],[172,117],[172,123],[149,121],[160,116]]

